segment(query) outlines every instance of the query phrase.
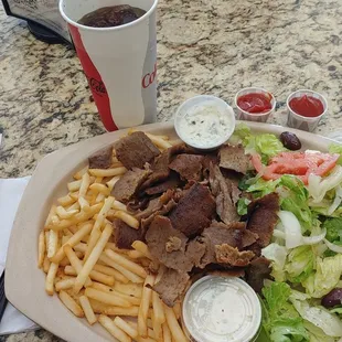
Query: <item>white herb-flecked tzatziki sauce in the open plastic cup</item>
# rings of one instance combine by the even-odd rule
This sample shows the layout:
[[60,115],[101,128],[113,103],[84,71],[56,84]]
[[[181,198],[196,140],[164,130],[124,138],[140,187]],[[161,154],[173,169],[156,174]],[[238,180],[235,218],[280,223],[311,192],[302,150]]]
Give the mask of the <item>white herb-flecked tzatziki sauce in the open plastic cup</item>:
[[227,135],[234,130],[235,118],[233,109],[223,104],[207,99],[185,108],[177,127],[180,137],[197,148],[212,148],[225,142]]

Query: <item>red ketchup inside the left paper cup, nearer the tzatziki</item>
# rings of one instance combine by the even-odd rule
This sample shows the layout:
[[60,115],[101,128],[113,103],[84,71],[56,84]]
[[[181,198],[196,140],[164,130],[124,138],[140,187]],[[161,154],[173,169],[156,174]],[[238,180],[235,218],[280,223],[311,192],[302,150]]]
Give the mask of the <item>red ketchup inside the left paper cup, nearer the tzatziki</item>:
[[270,94],[250,93],[237,98],[237,106],[250,114],[263,114],[271,109]]

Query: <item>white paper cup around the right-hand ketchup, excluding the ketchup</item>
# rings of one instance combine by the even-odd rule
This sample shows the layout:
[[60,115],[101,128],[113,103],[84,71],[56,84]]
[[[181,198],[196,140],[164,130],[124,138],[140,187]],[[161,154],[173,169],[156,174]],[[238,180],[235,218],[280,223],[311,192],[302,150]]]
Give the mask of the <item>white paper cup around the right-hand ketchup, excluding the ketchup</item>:
[[[295,97],[301,97],[303,95],[309,95],[314,98],[318,98],[323,104],[323,113],[320,116],[317,117],[304,117],[296,111],[293,111],[290,107],[290,100]],[[308,89],[300,89],[295,93],[292,93],[286,101],[287,109],[288,109],[288,118],[287,118],[287,126],[306,130],[306,131],[314,131],[318,124],[320,122],[321,118],[327,114],[328,111],[328,101],[325,97],[317,92],[308,90]]]

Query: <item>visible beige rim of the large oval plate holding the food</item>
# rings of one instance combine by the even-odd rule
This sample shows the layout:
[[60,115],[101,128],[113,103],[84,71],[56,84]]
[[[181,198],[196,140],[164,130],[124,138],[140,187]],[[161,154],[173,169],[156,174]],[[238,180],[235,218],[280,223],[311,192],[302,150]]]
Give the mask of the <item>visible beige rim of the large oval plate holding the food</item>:
[[[296,132],[303,149],[327,151],[332,140],[313,133],[281,126],[244,121],[256,133],[285,130]],[[173,122],[152,124],[137,129],[178,139]],[[36,167],[21,200],[8,250],[6,265],[6,295],[23,314],[42,328],[70,342],[115,341],[101,327],[90,328],[85,320],[75,318],[44,290],[45,275],[38,265],[38,236],[54,201],[66,193],[66,183],[86,164],[87,158],[97,150],[111,145],[127,130],[95,137],[55,151]]]

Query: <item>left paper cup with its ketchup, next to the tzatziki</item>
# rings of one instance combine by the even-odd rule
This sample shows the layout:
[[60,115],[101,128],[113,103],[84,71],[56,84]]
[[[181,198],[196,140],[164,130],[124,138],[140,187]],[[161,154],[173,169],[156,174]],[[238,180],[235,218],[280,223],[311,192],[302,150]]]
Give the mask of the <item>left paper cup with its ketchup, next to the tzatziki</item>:
[[276,98],[263,88],[249,87],[235,95],[237,119],[266,122],[276,109]]

